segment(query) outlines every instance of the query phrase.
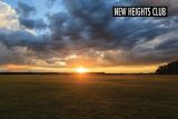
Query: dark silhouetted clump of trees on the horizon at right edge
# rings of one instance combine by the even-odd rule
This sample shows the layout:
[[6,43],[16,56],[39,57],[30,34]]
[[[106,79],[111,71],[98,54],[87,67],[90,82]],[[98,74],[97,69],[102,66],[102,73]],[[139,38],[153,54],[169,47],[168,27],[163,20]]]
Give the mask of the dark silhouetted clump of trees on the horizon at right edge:
[[178,61],[160,66],[156,70],[157,75],[178,75]]

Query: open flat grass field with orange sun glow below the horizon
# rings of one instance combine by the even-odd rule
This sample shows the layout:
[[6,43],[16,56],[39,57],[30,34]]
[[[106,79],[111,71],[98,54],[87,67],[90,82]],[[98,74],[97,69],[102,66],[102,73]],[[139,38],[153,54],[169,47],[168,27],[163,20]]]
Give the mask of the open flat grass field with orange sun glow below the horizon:
[[0,76],[0,119],[178,119],[178,76]]

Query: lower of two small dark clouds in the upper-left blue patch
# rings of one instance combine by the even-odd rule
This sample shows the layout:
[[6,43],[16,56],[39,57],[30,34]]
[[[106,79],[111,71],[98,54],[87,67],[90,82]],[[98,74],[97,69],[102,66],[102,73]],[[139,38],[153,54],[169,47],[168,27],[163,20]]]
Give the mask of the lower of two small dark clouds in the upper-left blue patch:
[[44,21],[42,19],[30,19],[30,18],[20,18],[19,19],[20,24],[24,26],[28,29],[46,29],[47,24],[44,23]]

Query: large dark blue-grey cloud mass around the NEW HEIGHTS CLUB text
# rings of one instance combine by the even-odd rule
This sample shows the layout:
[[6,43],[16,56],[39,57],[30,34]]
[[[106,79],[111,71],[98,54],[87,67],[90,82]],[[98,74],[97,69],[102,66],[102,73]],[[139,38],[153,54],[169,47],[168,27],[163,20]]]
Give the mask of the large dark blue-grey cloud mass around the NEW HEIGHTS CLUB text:
[[[136,0],[128,1],[128,4],[137,6],[168,6],[170,17],[169,18],[111,18],[111,1],[99,0],[67,0],[66,4],[70,16],[73,19],[78,19],[82,26],[78,26],[78,30],[73,30],[71,34],[79,36],[82,38],[82,42],[87,42],[87,47],[91,47],[98,50],[125,50],[126,59],[123,63],[158,63],[177,58],[178,48],[176,48],[175,39],[171,42],[166,42],[166,49],[156,47],[154,49],[137,49],[138,44],[145,43],[156,39],[159,36],[172,32],[177,30],[178,22],[175,3],[176,1],[150,1],[150,0]],[[125,2],[126,3],[126,2]],[[174,11],[175,10],[175,11]],[[172,22],[174,21],[174,22]],[[80,30],[82,29],[82,30]],[[75,32],[77,31],[77,32]],[[79,32],[81,31],[81,32]],[[83,36],[80,36],[83,34]],[[177,38],[177,36],[176,36]],[[85,39],[85,40],[83,40]],[[160,39],[161,40],[161,39]],[[171,44],[170,44],[171,43]],[[152,44],[156,46],[156,44]],[[169,47],[168,47],[169,46]],[[172,50],[172,47],[175,48]],[[126,50],[127,49],[127,50]],[[131,52],[131,53],[129,53]],[[146,54],[144,54],[144,53]],[[157,54],[159,53],[159,54]],[[119,56],[115,56],[118,60]],[[127,61],[129,60],[129,61]],[[141,61],[142,60],[142,61]],[[116,62],[115,65],[118,65]]]

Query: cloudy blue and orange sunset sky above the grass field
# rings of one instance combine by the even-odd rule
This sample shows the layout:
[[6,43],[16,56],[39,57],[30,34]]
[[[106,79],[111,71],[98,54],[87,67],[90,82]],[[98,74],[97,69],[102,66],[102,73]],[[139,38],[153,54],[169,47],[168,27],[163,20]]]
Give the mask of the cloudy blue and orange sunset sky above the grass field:
[[[167,6],[167,18],[112,17]],[[0,71],[154,72],[178,60],[177,0],[0,0]]]

